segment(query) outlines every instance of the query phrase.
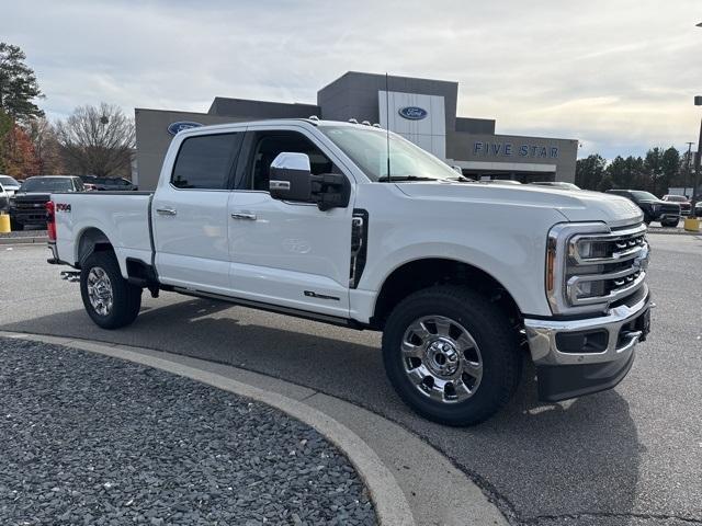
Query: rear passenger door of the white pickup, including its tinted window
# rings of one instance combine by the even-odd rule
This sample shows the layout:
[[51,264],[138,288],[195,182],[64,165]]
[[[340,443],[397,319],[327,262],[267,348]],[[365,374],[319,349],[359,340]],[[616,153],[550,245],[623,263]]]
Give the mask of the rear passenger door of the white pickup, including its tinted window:
[[229,293],[228,203],[244,132],[173,139],[181,141],[177,157],[165,162],[173,169],[161,173],[151,205],[162,283]]

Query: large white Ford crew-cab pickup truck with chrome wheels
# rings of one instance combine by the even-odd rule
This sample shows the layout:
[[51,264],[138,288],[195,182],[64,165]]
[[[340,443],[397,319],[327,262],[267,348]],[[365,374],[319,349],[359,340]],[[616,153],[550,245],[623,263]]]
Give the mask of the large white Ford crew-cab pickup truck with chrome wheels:
[[542,400],[612,388],[649,330],[632,202],[468,182],[372,126],[188,129],[154,193],[59,193],[47,210],[49,263],[79,271],[98,325],[132,323],[146,288],[383,331],[399,396],[451,425],[503,407],[525,355]]

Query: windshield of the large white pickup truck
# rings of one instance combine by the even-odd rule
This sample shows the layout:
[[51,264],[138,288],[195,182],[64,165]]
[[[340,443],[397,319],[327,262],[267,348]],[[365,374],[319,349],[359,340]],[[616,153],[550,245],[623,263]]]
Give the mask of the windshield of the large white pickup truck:
[[[387,134],[362,126],[319,126],[371,181],[387,180]],[[390,178],[455,181],[453,169],[398,135],[389,134]]]

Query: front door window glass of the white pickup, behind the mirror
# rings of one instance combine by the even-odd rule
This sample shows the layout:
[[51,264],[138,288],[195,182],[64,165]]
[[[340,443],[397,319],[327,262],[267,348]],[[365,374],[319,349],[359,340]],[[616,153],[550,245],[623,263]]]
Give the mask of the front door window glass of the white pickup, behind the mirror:
[[307,155],[314,175],[339,172],[319,148],[297,132],[256,132],[250,144],[250,159],[237,181],[239,190],[268,192],[271,163],[283,151]]

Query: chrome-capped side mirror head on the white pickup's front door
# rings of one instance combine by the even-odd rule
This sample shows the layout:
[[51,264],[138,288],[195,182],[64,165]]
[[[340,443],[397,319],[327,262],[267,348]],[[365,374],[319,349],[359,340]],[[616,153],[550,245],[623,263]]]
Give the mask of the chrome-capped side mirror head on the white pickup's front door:
[[269,191],[281,201],[312,201],[312,172],[305,153],[283,151],[271,163]]

